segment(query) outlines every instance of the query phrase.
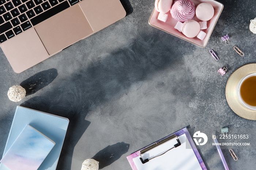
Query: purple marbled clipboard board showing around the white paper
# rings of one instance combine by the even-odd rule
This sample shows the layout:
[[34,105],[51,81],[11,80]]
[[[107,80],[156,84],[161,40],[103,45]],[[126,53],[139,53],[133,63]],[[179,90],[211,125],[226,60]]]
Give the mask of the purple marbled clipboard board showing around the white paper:
[[[191,148],[192,148],[192,150],[193,150],[193,152],[194,152],[194,154],[195,154],[195,156],[196,156],[196,158],[197,158],[197,161],[198,161],[198,163],[200,164],[199,167],[201,167],[202,170],[207,170],[207,168],[206,168],[206,166],[204,165],[204,162],[203,162],[203,160],[202,160],[202,158],[201,158],[201,156],[200,156],[200,154],[199,154],[199,152],[198,152],[198,150],[197,150],[197,148],[196,148],[196,146],[195,146],[195,144],[194,144],[194,142],[193,142],[193,139],[191,138],[191,136],[190,136],[190,134],[189,134],[187,128],[185,127],[185,128],[183,128],[183,129],[181,129],[181,130],[179,130],[179,131],[177,131],[177,132],[174,132],[173,134],[171,134],[171,135],[169,135],[169,136],[172,136],[172,135],[174,135],[174,134],[177,135],[178,137],[181,136],[181,135],[182,135],[182,136],[186,136],[187,141],[189,142],[189,144],[190,144],[190,146],[191,146]],[[184,134],[185,134],[185,135],[184,135]],[[165,138],[168,138],[169,136],[166,136]],[[163,138],[163,139],[165,139],[165,138]],[[162,139],[161,139],[161,140],[162,140]],[[158,141],[155,142],[155,143],[158,143],[159,141],[160,141],[160,140],[158,140]],[[148,145],[148,146],[152,146],[152,145],[154,145],[155,143],[150,144],[150,145]],[[183,143],[183,145],[184,145],[184,144],[185,144],[185,143]],[[148,146],[146,146],[146,147],[148,147]],[[146,147],[144,147],[144,148],[146,148]],[[129,163],[130,163],[130,165],[131,165],[131,167],[132,167],[133,170],[138,170],[138,168],[136,167],[136,163],[134,162],[134,158],[140,157],[140,151],[143,150],[144,148],[142,148],[142,149],[140,149],[140,150],[138,150],[138,151],[132,153],[131,155],[129,155],[129,156],[127,157],[127,159],[128,159],[128,161],[129,161]],[[177,147],[177,148],[178,148],[178,147]],[[177,148],[174,148],[173,150],[175,150],[175,149],[177,149]],[[172,150],[170,150],[170,151],[168,151],[168,152],[172,152]],[[164,155],[162,155],[162,156],[164,156]],[[161,156],[160,156],[159,158],[161,158]],[[185,163],[187,163],[187,161],[184,162],[184,164],[185,164]],[[171,168],[171,167],[170,167],[170,168]]]

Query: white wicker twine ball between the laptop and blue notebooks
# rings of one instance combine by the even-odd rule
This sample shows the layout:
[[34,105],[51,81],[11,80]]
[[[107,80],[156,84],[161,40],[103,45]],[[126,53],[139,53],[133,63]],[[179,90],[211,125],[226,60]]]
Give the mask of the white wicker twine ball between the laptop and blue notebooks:
[[26,90],[19,85],[14,85],[10,87],[7,93],[11,101],[17,102],[26,96]]

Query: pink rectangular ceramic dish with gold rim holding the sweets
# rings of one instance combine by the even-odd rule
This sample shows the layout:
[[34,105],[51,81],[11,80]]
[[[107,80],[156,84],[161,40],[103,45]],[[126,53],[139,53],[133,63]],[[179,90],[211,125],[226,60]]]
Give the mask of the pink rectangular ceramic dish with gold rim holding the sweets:
[[[172,15],[170,14],[170,12],[167,13],[168,14],[167,21],[162,22],[157,19],[159,12],[157,12],[157,10],[154,9],[153,13],[150,16],[148,23],[153,27],[156,27],[162,31],[168,32],[169,34],[172,34],[172,35],[177,36],[181,39],[184,39],[188,42],[191,42],[199,47],[204,48],[207,45],[207,42],[211,36],[212,30],[213,30],[217,20],[219,19],[219,16],[221,15],[221,12],[223,9],[223,4],[219,3],[218,1],[215,1],[215,0],[191,0],[191,1],[195,4],[196,7],[200,3],[207,2],[207,3],[211,4],[212,7],[214,8],[214,16],[209,21],[207,21],[207,29],[202,30],[202,31],[206,32],[206,37],[203,40],[200,40],[197,37],[188,38],[184,34],[182,34],[182,32],[176,30],[174,28],[174,26],[176,25],[177,21],[172,18]],[[193,20],[200,21],[199,19],[196,18],[196,16],[194,16]]]

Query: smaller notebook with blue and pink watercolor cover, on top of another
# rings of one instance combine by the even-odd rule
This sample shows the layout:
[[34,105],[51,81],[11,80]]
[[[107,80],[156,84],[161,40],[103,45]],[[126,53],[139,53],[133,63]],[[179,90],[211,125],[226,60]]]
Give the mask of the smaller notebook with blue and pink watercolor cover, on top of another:
[[27,124],[0,162],[11,170],[37,170],[54,145],[55,142]]

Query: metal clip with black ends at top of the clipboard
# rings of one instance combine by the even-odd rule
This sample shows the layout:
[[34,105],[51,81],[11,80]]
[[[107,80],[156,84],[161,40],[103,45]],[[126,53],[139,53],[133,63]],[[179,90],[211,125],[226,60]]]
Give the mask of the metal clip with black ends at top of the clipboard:
[[142,150],[140,151],[140,161],[144,164],[144,163],[150,161],[150,160],[153,159],[153,158],[156,158],[156,157],[159,157],[159,156],[165,154],[165,153],[168,152],[169,150],[167,150],[167,151],[163,152],[162,154],[157,155],[157,156],[155,156],[155,157],[153,157],[153,158],[148,158],[148,159],[145,159],[145,160],[142,158],[142,154],[146,153],[147,151],[150,151],[151,149],[153,149],[153,148],[155,148],[155,147],[158,147],[159,145],[161,145],[161,144],[163,144],[163,143],[165,143],[165,142],[168,142],[169,140],[175,139],[175,138],[176,138],[176,140],[177,140],[178,143],[177,143],[177,144],[174,144],[174,146],[173,146],[172,148],[170,148],[169,150],[171,150],[171,149],[173,149],[173,148],[176,148],[176,147],[178,147],[178,146],[181,146],[180,139],[178,139],[178,136],[177,136],[177,135],[169,136],[169,137],[167,137],[167,138],[165,138],[165,139],[159,140],[158,142],[156,142],[156,143],[154,143],[154,144],[152,144],[152,145],[150,145],[150,146],[148,146],[148,147],[142,149]]

